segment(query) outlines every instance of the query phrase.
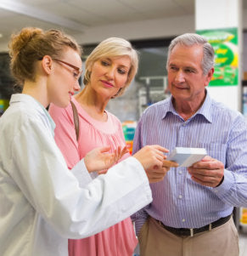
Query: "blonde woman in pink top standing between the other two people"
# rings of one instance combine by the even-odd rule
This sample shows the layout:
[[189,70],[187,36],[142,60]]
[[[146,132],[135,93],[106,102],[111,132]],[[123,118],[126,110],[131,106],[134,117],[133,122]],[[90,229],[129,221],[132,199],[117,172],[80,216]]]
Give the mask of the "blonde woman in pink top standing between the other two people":
[[[85,87],[72,98],[79,115],[80,133],[76,139],[71,105],[50,107],[56,122],[55,139],[69,168],[97,146],[109,145],[111,151],[126,145],[121,122],[106,105],[124,93],[138,71],[138,54],[131,43],[110,37],[99,43],[86,60]],[[121,160],[130,156],[126,153]],[[127,185],[127,184],[126,184]],[[110,218],[110,216],[109,216]],[[70,256],[131,256],[137,245],[130,218],[82,240],[69,241]]]

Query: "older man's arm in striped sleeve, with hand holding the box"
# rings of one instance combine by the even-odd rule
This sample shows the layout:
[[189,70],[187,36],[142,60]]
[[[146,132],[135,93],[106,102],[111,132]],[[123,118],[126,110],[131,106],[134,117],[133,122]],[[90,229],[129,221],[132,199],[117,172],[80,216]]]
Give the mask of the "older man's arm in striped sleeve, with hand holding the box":
[[210,156],[188,168],[192,179],[213,187],[223,202],[247,207],[247,126],[242,117],[233,122],[226,151],[226,164]]

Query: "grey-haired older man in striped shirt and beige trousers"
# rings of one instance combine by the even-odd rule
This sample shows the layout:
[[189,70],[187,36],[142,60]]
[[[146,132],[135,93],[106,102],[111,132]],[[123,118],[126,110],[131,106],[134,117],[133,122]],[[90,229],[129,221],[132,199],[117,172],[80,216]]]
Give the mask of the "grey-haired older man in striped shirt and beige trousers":
[[214,50],[204,37],[171,41],[166,65],[171,98],[151,105],[138,122],[133,151],[160,144],[205,148],[189,168],[171,168],[151,185],[154,201],[133,216],[142,256],[238,256],[233,206],[247,206],[247,125],[212,100]]

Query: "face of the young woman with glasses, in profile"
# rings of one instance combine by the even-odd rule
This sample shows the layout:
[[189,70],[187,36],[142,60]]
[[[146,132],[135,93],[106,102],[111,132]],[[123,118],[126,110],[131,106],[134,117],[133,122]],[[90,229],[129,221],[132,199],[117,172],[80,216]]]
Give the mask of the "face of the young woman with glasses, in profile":
[[70,104],[71,95],[80,89],[81,57],[67,48],[59,59],[53,59],[53,77],[48,85],[49,101],[59,107]]

